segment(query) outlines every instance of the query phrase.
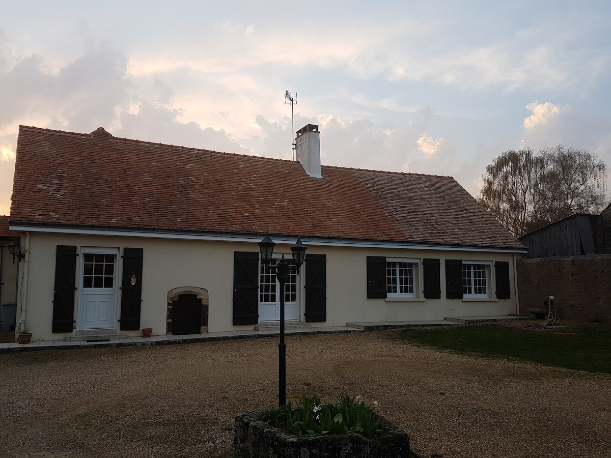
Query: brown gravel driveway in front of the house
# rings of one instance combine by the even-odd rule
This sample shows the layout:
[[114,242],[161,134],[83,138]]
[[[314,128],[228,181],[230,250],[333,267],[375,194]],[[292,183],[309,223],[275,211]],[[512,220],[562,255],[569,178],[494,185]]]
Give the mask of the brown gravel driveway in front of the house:
[[[287,336],[287,397],[379,402],[424,457],[608,457],[611,377],[464,357],[395,333]],[[230,457],[277,402],[277,339],[0,354],[0,457]]]

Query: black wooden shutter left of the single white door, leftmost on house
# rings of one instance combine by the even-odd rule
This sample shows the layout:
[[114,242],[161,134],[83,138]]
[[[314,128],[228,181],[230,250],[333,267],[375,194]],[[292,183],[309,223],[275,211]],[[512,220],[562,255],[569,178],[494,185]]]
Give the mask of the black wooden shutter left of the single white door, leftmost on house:
[[57,245],[51,332],[72,332],[75,316],[76,247]]

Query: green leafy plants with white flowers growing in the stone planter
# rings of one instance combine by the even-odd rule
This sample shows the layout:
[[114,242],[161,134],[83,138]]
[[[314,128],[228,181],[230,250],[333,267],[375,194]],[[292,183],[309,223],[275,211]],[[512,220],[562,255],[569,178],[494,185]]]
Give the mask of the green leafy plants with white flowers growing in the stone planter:
[[[374,403],[377,407],[377,402]],[[384,418],[356,396],[340,396],[339,402],[322,404],[315,394],[303,394],[293,407],[291,402],[263,410],[260,419],[288,434],[360,434],[372,438],[386,429]]]

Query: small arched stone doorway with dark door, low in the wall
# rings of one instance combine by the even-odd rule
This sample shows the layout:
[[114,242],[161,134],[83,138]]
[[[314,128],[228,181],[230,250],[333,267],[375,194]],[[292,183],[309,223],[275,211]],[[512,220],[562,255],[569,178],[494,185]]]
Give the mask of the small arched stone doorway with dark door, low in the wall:
[[166,333],[172,335],[208,332],[208,290],[181,286],[167,293]]

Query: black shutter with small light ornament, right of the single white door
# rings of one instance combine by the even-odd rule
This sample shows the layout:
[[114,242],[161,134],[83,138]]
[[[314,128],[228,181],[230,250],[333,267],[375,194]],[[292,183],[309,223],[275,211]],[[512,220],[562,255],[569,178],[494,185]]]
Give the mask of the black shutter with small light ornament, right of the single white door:
[[122,331],[140,329],[143,253],[142,248],[123,249],[120,319]]

